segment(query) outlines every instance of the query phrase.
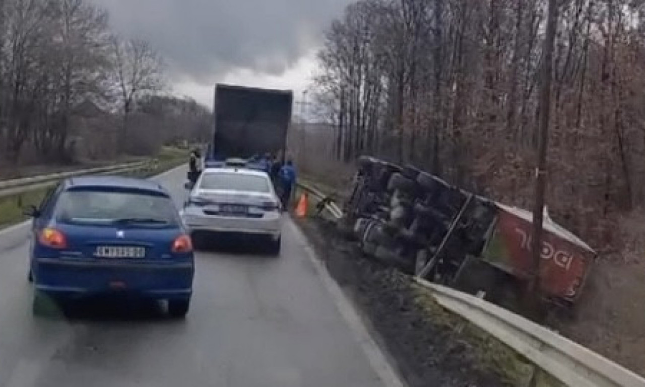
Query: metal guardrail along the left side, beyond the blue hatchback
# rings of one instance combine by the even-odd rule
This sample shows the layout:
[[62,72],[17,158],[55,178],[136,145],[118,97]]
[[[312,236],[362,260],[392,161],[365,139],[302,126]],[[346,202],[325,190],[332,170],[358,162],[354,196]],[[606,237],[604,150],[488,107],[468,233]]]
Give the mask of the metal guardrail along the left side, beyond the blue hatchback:
[[135,163],[102,166],[99,168],[90,168],[86,170],[59,172],[56,174],[39,175],[34,177],[24,177],[21,179],[0,181],[0,198],[11,196],[11,195],[22,194],[23,192],[37,190],[39,188],[45,188],[45,187],[54,185],[61,179],[66,179],[68,177],[75,177],[75,176],[81,176],[81,175],[96,175],[96,174],[122,174],[124,172],[129,172],[132,170],[148,168],[148,166],[151,166],[151,165],[152,165],[152,162],[149,160],[146,160],[146,161],[137,161]]

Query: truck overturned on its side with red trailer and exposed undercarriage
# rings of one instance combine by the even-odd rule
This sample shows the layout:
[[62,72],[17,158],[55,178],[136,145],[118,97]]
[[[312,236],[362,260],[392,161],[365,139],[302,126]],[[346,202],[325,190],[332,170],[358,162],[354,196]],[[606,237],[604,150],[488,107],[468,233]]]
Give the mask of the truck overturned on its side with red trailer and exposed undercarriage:
[[[344,206],[367,255],[406,273],[466,291],[497,292],[530,278],[526,210],[451,186],[413,166],[361,157]],[[539,285],[550,301],[574,303],[596,253],[545,213]]]

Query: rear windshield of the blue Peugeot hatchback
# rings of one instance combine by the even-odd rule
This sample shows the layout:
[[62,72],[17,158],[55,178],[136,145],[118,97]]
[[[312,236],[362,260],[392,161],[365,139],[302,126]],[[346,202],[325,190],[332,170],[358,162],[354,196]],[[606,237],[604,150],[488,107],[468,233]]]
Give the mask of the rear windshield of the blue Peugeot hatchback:
[[177,210],[170,198],[137,191],[74,190],[64,192],[55,219],[72,224],[176,226]]

